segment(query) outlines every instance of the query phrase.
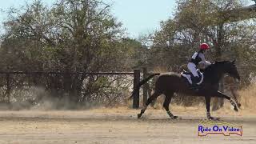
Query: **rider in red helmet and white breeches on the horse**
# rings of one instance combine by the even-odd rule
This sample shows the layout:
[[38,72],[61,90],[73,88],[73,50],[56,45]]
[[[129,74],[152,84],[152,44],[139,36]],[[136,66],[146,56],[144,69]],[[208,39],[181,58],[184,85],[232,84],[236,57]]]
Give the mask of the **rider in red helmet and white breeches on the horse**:
[[192,88],[195,88],[197,83],[199,82],[199,76],[197,72],[197,66],[198,64],[202,63],[204,66],[209,66],[211,63],[206,61],[204,53],[206,50],[210,49],[210,46],[206,43],[202,43],[200,45],[200,50],[198,52],[195,52],[192,58],[190,59],[190,62],[187,64],[188,69],[193,74],[194,77],[191,78],[192,80]]

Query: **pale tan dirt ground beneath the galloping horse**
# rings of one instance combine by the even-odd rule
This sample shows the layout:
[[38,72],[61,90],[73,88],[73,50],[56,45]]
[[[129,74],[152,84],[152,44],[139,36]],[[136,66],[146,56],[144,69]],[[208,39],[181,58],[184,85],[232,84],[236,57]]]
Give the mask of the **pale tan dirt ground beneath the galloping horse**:
[[164,110],[126,108],[82,111],[0,111],[0,143],[256,143],[256,114],[221,110],[212,113],[220,122],[242,126],[243,135],[198,137],[203,108],[176,108],[182,119],[170,120]]

